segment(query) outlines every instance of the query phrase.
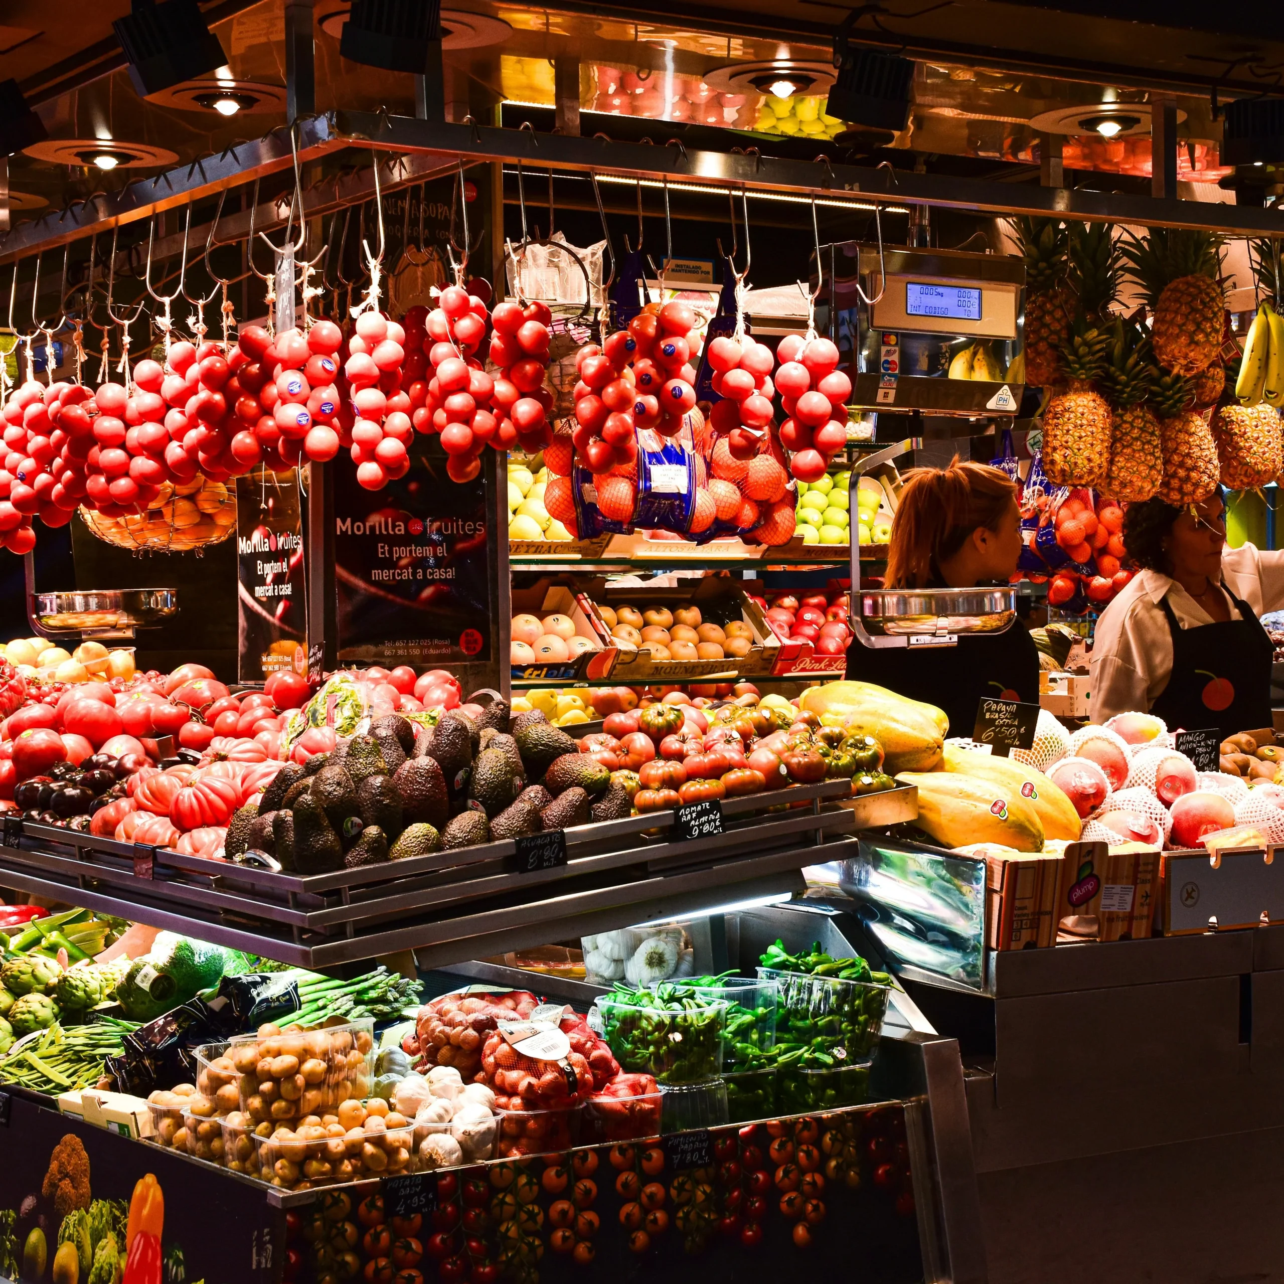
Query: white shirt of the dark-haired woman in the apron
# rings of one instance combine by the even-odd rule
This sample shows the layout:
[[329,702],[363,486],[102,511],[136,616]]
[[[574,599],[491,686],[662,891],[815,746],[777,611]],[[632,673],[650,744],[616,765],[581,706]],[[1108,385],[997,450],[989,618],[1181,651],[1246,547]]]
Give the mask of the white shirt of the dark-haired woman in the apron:
[[[1221,571],[1226,587],[1256,615],[1284,607],[1284,551],[1263,551],[1253,544],[1225,548]],[[1172,634],[1161,602],[1179,628],[1212,624],[1208,612],[1163,571],[1143,570],[1102,611],[1093,634],[1089,660],[1091,719],[1103,723],[1131,710],[1145,713],[1163,692],[1172,674]],[[1240,619],[1234,602],[1230,618]]]

